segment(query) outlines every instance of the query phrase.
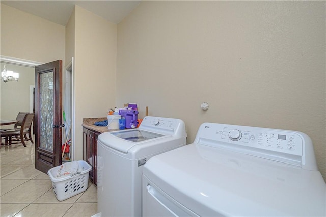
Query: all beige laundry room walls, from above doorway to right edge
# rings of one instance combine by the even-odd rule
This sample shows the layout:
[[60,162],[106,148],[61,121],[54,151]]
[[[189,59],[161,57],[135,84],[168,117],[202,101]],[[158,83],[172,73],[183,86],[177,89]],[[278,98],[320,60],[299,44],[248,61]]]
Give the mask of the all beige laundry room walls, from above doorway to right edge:
[[188,143],[203,122],[305,132],[325,178],[325,4],[144,1],[118,32],[78,6],[65,30],[1,4],[1,55],[75,57],[75,159],[83,118],[138,102],[141,118],[184,120]]

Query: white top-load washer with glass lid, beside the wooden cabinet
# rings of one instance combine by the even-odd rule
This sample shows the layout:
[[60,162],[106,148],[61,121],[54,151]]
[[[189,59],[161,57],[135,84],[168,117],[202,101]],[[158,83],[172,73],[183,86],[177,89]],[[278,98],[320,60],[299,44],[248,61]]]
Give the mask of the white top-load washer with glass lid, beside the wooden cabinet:
[[142,172],[154,155],[186,144],[184,122],[151,117],[137,129],[105,132],[97,141],[97,210],[106,216],[141,216]]

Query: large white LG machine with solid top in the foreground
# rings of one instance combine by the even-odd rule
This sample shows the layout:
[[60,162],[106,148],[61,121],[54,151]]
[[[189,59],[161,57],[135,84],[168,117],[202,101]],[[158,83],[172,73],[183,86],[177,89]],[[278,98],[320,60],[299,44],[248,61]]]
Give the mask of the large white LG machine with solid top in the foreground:
[[308,135],[204,123],[193,144],[152,157],[143,216],[325,216]]

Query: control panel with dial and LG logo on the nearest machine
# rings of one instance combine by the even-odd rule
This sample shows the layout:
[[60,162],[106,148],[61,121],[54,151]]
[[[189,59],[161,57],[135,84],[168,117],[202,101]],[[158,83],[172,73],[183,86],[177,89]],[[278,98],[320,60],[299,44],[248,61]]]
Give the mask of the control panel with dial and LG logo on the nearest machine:
[[225,148],[244,146],[256,151],[263,149],[279,154],[303,154],[303,137],[296,131],[204,123],[197,137],[201,138],[203,143],[228,144],[224,145]]

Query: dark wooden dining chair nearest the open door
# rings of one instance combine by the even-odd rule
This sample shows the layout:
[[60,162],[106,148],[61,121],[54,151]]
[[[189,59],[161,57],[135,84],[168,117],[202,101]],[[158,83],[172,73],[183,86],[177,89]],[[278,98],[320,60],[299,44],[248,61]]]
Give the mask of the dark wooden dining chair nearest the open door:
[[[1,132],[1,137],[5,137],[5,145],[8,145],[8,140],[9,145],[22,143],[24,147],[26,147],[25,141],[30,140],[34,143],[31,134],[33,119],[34,113],[25,114],[20,129]],[[29,135],[29,138],[27,138],[27,135]]]

